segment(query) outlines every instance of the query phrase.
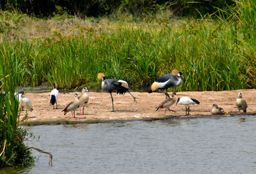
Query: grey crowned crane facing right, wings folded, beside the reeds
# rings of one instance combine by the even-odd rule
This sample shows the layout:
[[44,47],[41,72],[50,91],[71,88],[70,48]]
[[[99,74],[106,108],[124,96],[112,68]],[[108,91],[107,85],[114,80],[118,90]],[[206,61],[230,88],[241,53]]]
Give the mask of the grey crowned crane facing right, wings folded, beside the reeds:
[[156,82],[152,83],[152,85],[150,85],[148,88],[148,93],[155,92],[158,89],[165,89],[166,98],[170,98],[169,94],[167,93],[167,89],[170,87],[179,87],[179,85],[182,83],[181,77],[184,78],[182,73],[177,69],[174,69],[172,73],[157,78]]

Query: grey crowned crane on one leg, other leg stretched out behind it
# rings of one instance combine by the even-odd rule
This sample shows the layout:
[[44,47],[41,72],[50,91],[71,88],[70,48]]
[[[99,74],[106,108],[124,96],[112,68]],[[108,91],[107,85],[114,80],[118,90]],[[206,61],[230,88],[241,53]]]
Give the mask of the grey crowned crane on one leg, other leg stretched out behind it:
[[[98,74],[98,79],[102,79],[102,91],[109,92],[112,101],[112,111],[114,111],[112,92],[116,92],[116,94],[125,94],[125,92],[129,92],[129,85],[124,80],[106,79],[105,75],[102,73]],[[129,94],[131,94],[131,92],[129,92]],[[134,96],[132,96],[132,98],[136,103],[136,98],[134,98]]]

